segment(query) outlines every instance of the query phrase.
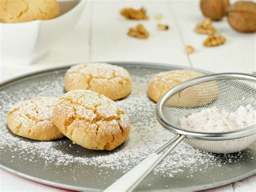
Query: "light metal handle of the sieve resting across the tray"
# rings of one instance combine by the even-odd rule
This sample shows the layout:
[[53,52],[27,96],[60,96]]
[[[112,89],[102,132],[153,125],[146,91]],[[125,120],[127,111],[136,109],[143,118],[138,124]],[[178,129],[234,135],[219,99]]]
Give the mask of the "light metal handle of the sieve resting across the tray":
[[[111,184],[104,191],[132,191],[184,138],[184,135],[178,134],[164,146],[159,148],[159,150],[149,155],[137,166],[120,177],[120,179]],[[165,148],[168,149],[164,153],[160,153],[161,151],[165,150]]]

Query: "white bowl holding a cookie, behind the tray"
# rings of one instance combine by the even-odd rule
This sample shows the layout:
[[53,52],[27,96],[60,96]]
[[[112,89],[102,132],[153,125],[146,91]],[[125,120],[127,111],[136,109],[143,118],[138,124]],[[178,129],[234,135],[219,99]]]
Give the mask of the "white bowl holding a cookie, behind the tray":
[[85,1],[58,2],[60,13],[54,19],[0,23],[2,63],[33,63],[48,53],[56,40],[74,30],[85,8]]

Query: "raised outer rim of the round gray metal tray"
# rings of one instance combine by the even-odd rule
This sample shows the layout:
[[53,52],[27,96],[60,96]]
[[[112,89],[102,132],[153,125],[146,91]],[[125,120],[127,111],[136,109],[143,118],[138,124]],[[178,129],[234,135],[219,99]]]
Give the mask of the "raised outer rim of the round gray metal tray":
[[[84,63],[84,62],[82,62]],[[90,63],[99,63],[99,62],[90,62]],[[123,61],[109,61],[107,63],[113,64],[113,65],[118,65],[118,66],[125,66],[125,67],[131,67],[131,68],[135,68],[135,67],[140,67],[140,68],[150,68],[150,69],[163,69],[163,70],[172,70],[172,69],[189,69],[189,70],[194,70],[197,72],[202,72],[205,74],[212,74],[212,72],[208,72],[207,70],[201,70],[198,68],[192,68],[192,67],[185,67],[185,66],[178,66],[178,65],[171,65],[171,64],[167,64],[167,63],[157,63],[157,62],[123,62]],[[60,72],[62,70],[67,70],[69,69],[71,66],[73,65],[78,65],[80,63],[75,63],[75,64],[71,64],[71,65],[65,65],[65,66],[59,66],[59,67],[53,67],[53,68],[48,68],[48,69],[42,69],[42,70],[36,70],[35,72],[31,72],[31,73],[26,73],[23,75],[19,75],[16,76],[14,78],[5,80],[3,82],[0,82],[0,90],[4,89],[5,87],[9,87],[12,84],[15,84],[17,82],[22,82],[28,79],[31,79],[33,77],[37,77],[37,76],[42,76],[48,73],[54,73],[56,71]],[[22,172],[18,172],[17,170],[10,168],[9,166],[3,165],[2,162],[0,162],[0,168],[15,174],[17,176],[21,176],[25,179],[31,180],[31,181],[35,181],[38,183],[42,183],[42,184],[46,184],[49,186],[53,186],[53,187],[60,187],[60,188],[64,188],[64,189],[71,189],[71,190],[92,190],[92,191],[101,191],[99,189],[95,189],[95,188],[84,188],[84,187],[74,187],[70,184],[63,184],[63,183],[58,183],[58,182],[53,182],[53,181],[49,181],[49,180],[45,180],[45,179],[39,179],[35,176],[31,176],[29,174],[24,174]],[[212,184],[205,184],[202,186],[195,186],[195,187],[186,187],[186,188],[178,188],[178,189],[172,189],[172,190],[183,190],[183,191],[190,191],[190,190],[203,190],[203,189],[210,189],[210,188],[214,188],[214,187],[219,187],[219,186],[223,186],[225,184],[228,183],[232,183],[235,181],[239,181],[241,179],[245,179],[246,177],[249,177],[253,174],[256,174],[256,169],[251,170],[250,172],[247,172],[245,174],[233,177],[232,179],[227,179],[224,181],[220,181],[220,182],[216,182],[216,183],[212,183]],[[160,191],[166,191],[166,189],[162,189]]]

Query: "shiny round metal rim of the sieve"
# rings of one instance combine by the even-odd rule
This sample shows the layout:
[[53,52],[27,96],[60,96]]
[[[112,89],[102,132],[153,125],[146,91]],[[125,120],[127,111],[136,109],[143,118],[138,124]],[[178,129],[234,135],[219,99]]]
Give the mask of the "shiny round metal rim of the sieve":
[[256,125],[246,127],[244,129],[230,131],[230,132],[214,132],[214,133],[206,133],[206,132],[196,132],[180,129],[177,126],[174,126],[169,120],[167,120],[163,114],[164,103],[172,97],[174,94],[179,91],[186,89],[190,86],[194,86],[198,83],[204,83],[208,81],[215,80],[247,80],[256,83],[256,76],[244,74],[244,73],[219,73],[219,74],[211,74],[206,76],[197,77],[192,80],[188,80],[174,86],[169,91],[167,91],[163,96],[160,97],[159,101],[156,105],[156,117],[158,122],[164,126],[167,130],[171,131],[174,134],[184,134],[186,138],[190,139],[199,139],[199,140],[227,140],[227,139],[237,139],[242,137],[251,136],[252,134],[256,134]]

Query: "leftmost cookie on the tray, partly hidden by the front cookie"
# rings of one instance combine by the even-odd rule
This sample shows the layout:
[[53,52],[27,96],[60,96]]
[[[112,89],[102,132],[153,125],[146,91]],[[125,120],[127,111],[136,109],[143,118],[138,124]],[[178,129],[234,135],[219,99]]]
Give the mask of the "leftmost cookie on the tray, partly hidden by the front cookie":
[[9,129],[33,140],[64,137],[53,124],[52,111],[57,101],[55,97],[37,97],[17,104],[7,115]]

